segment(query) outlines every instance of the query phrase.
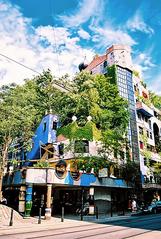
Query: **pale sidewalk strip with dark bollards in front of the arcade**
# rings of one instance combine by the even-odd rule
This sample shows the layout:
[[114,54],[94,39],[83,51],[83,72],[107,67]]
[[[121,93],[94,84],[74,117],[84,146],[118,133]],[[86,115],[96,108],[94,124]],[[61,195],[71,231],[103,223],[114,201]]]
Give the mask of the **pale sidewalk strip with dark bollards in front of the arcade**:
[[31,232],[31,231],[40,231],[40,230],[49,230],[49,229],[60,229],[66,227],[74,227],[79,225],[87,225],[90,223],[111,223],[114,221],[120,220],[130,220],[131,216],[138,216],[133,213],[126,213],[125,215],[118,216],[114,215],[113,217],[107,217],[106,215],[99,215],[98,219],[96,216],[83,216],[83,221],[81,221],[80,216],[67,215],[64,218],[64,221],[61,222],[60,217],[52,217],[50,220],[44,220],[42,218],[41,224],[38,224],[38,218],[30,217],[27,219],[22,219],[20,221],[13,220],[13,226],[9,226],[9,221],[5,224],[0,225],[0,235],[14,234],[21,232]]

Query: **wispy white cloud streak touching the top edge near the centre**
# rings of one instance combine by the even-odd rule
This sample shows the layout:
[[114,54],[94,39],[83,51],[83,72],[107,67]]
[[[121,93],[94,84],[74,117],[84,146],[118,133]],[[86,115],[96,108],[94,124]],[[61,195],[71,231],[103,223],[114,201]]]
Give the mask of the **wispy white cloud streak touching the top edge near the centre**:
[[79,3],[76,12],[69,16],[59,16],[59,19],[68,27],[79,26],[84,22],[87,22],[91,17],[100,17],[103,4],[103,0],[83,0]]

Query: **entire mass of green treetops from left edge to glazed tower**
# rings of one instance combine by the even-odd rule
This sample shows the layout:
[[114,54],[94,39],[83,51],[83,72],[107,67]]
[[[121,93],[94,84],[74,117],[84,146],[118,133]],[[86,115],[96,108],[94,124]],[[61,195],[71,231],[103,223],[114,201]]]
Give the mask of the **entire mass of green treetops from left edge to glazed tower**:
[[[62,92],[55,87],[56,83],[70,91]],[[124,142],[129,113],[128,103],[120,97],[115,83],[113,66],[106,77],[81,72],[73,81],[67,75],[56,80],[48,70],[26,80],[24,85],[3,86],[0,90],[0,145],[5,146],[5,152],[12,142],[23,142],[27,147],[45,111],[51,109],[61,117],[63,127],[58,134],[64,134],[71,141],[99,140],[106,151],[119,149]],[[78,123],[71,122],[73,115],[77,116]],[[89,115],[91,122],[87,122]],[[94,164],[94,160],[92,162]]]

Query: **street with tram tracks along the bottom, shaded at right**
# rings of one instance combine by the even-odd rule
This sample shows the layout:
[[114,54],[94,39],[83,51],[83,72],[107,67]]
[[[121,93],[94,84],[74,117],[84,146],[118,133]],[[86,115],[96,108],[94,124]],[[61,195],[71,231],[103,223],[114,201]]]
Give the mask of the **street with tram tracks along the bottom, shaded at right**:
[[109,221],[102,223],[77,222],[73,224],[62,223],[59,226],[53,224],[53,228],[46,226],[41,228],[38,225],[34,231],[28,228],[27,231],[21,230],[12,231],[12,228],[1,239],[31,239],[31,238],[56,238],[56,239],[122,239],[122,238],[146,238],[154,239],[161,238],[161,215],[146,215],[139,217],[129,217],[128,219],[119,221]]

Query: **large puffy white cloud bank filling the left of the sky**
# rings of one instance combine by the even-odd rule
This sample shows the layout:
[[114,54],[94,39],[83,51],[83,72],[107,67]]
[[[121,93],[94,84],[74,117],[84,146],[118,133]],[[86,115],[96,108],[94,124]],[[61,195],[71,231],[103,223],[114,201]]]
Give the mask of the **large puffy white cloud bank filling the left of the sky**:
[[[2,2],[2,1],[1,1]],[[33,28],[31,19],[24,18],[18,7],[0,3],[0,53],[42,72],[51,69],[55,75],[73,74],[84,56],[92,59],[94,52],[78,45],[68,29],[52,26]],[[59,64],[58,64],[59,63]],[[36,73],[0,55],[0,85],[22,83]]]

